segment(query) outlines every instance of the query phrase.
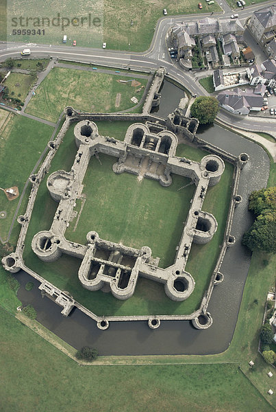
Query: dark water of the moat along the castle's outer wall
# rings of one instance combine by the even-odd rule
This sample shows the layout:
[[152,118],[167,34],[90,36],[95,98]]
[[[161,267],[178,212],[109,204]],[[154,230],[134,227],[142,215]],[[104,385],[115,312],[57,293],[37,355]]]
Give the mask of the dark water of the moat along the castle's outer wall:
[[[179,104],[183,91],[175,93],[175,85],[165,82],[158,115],[167,115]],[[166,103],[167,113],[166,112]],[[110,322],[108,330],[99,330],[95,321],[75,309],[68,318],[60,314],[62,308],[51,299],[42,299],[39,282],[20,271],[16,278],[21,284],[18,299],[23,306],[32,304],[38,312],[38,321],[61,339],[80,349],[83,346],[97,347],[100,355],[153,355],[153,354],[216,354],[227,349],[234,334],[242,292],[249,270],[251,255],[242,247],[241,238],[252,223],[247,210],[248,196],[252,190],[266,186],[269,174],[269,158],[261,146],[240,137],[217,125],[199,130],[203,139],[234,155],[247,152],[250,161],[240,175],[238,194],[242,203],[235,209],[231,234],[236,243],[227,250],[221,272],[224,281],[214,287],[208,311],[213,318],[207,330],[196,330],[190,321],[162,321],[156,330],[151,330],[144,321]],[[34,282],[31,291],[25,284]]]

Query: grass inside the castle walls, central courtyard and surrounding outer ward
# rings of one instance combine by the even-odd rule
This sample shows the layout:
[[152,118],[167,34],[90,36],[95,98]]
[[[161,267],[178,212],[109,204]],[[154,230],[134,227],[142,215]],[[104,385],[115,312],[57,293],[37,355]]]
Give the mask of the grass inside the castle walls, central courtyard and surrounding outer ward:
[[[118,122],[118,124],[112,126],[113,124],[113,122],[99,122],[100,133],[112,137],[112,128],[114,127],[114,136],[123,137],[129,123],[120,125]],[[60,168],[70,170],[75,152],[73,126],[71,126],[64,138],[64,143],[60,146],[57,155],[53,159],[50,173]],[[199,161],[206,155],[206,152],[190,146],[179,145],[177,155]],[[183,185],[181,183],[183,179],[180,176],[173,176],[174,183],[168,188],[161,187],[157,182],[147,179],[144,179],[142,183],[138,183],[136,176],[127,173],[116,175],[111,172],[111,165],[115,159],[105,157],[104,155],[100,155],[100,157],[103,166],[96,159],[92,159],[84,179],[84,185],[86,185],[84,192],[87,192],[88,198],[77,230],[73,232],[75,222],[71,222],[71,226],[66,231],[66,237],[70,240],[85,242],[87,231],[95,229],[102,238],[108,238],[115,242],[122,240],[127,246],[141,247],[148,245],[153,251],[153,256],[158,255],[161,258],[161,266],[166,267],[173,263],[175,246],[181,236],[182,222],[186,217],[187,205],[193,193],[193,186],[187,187],[185,193],[177,191]],[[108,169],[110,172],[106,173]],[[193,245],[192,247],[187,268],[195,277],[196,287],[192,296],[184,302],[177,303],[171,301],[171,299],[166,297],[162,284],[141,278],[138,280],[134,297],[122,303],[122,301],[118,301],[111,294],[103,294],[100,290],[91,294],[88,290],[82,288],[77,277],[77,271],[81,263],[79,260],[66,255],[60,258],[58,265],[55,263],[46,264],[39,260],[31,251],[30,243],[35,233],[40,230],[49,229],[57,207],[57,203],[49,196],[45,182],[42,182],[40,185],[34,213],[27,233],[25,242],[27,246],[24,252],[25,262],[27,266],[38,271],[43,277],[62,290],[68,290],[75,299],[97,314],[190,313],[197,309],[203,292],[208,286],[210,274],[214,268],[219,251],[218,246],[223,239],[232,173],[231,165],[226,164],[221,182],[210,188],[210,194],[208,193],[205,197],[203,210],[214,213],[218,220],[218,231],[208,244],[203,246]],[[112,186],[112,183],[114,186]],[[226,191],[225,187],[227,187]],[[91,196],[91,193],[93,193],[93,196]],[[101,193],[101,202],[99,204],[95,202],[94,197],[97,196],[97,193]],[[120,193],[120,195],[117,196],[117,193]],[[107,194],[108,197],[106,197]],[[149,194],[151,195],[149,196]],[[214,196],[216,196],[217,202],[213,204]],[[157,198],[158,201],[156,201]],[[172,203],[174,205],[173,214],[170,211]],[[145,209],[145,204],[147,204],[147,209]],[[80,201],[77,202],[77,207],[80,207]],[[152,213],[153,207],[158,210],[158,213]],[[184,209],[186,208],[186,211],[181,211],[180,213],[179,211],[183,207]],[[175,214],[175,208],[178,209],[177,214]],[[142,222],[144,218],[140,220],[137,218],[140,215],[146,216],[145,224]],[[128,222],[128,225],[125,222]],[[150,231],[148,227],[151,227]],[[162,231],[166,233],[166,242],[162,238]],[[135,236],[133,233],[135,233]],[[200,263],[201,260],[198,259],[199,254],[208,261],[208,264]]]

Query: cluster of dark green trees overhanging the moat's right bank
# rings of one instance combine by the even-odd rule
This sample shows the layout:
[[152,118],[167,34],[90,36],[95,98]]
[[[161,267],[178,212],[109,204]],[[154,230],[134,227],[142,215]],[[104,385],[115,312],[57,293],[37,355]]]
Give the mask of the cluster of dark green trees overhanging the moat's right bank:
[[251,251],[276,252],[276,186],[254,190],[249,196],[249,210],[255,214],[255,222],[244,233],[242,244]]

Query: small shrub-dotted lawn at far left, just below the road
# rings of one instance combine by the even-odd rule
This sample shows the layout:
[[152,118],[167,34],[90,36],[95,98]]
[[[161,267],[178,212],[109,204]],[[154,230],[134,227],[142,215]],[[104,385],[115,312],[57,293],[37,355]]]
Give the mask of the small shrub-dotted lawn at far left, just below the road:
[[5,87],[9,89],[9,96],[18,98],[24,102],[29,93],[29,89],[36,82],[36,76],[31,74],[10,73],[10,76],[5,80]]

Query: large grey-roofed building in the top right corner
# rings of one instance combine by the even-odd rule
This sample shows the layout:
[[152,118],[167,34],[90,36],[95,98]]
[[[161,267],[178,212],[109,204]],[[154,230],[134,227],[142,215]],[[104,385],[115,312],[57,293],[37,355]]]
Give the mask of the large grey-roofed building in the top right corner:
[[276,5],[269,5],[253,12],[248,28],[260,45],[264,46],[271,42],[275,38]]

